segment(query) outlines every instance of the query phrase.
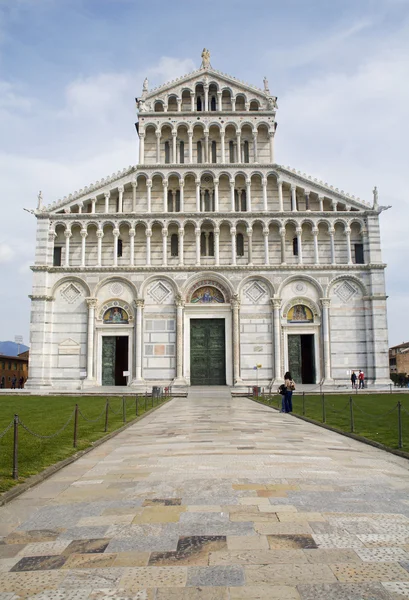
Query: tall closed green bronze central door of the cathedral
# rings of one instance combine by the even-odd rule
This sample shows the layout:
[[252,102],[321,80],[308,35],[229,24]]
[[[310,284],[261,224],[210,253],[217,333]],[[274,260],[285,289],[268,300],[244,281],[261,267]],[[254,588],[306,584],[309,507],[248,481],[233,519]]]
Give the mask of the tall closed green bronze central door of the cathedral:
[[224,319],[190,320],[190,383],[226,385]]

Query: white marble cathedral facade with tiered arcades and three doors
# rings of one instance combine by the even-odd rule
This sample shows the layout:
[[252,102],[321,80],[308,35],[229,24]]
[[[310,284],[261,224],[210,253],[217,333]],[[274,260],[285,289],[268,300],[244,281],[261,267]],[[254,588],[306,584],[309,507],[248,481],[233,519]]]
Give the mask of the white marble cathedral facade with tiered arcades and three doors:
[[39,196],[28,386],[388,382],[376,189],[277,164],[268,81],[207,50],[136,100],[138,165]]

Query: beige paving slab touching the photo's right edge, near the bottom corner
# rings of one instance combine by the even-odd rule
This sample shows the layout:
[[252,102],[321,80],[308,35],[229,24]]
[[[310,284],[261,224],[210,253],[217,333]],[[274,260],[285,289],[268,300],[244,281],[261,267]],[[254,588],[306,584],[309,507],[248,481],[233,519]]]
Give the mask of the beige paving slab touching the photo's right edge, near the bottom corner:
[[330,565],[339,581],[409,581],[409,573],[396,563],[361,563]]

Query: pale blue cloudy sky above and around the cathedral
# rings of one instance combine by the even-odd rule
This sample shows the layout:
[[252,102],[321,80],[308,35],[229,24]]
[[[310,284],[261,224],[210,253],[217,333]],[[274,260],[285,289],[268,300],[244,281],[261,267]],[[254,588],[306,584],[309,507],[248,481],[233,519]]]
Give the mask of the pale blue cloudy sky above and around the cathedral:
[[0,340],[29,340],[38,191],[137,161],[134,97],[200,66],[278,96],[276,160],[372,201],[409,340],[409,0],[0,0]]

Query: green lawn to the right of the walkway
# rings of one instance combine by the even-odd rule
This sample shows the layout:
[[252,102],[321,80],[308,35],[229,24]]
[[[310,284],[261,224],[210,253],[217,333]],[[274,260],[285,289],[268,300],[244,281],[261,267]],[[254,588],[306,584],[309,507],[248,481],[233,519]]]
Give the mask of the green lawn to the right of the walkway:
[[[325,423],[342,431],[351,431],[351,415],[348,394],[325,394]],[[409,393],[366,394],[351,396],[353,400],[354,433],[398,448],[398,401],[402,404],[402,450],[409,452]],[[263,399],[261,399],[263,401]],[[281,406],[281,396],[264,399],[270,406]],[[304,409],[301,393],[293,394],[293,412],[309,419],[323,422],[323,401],[320,395],[305,394]]]

